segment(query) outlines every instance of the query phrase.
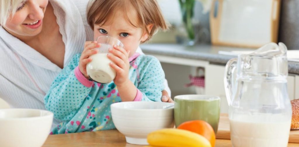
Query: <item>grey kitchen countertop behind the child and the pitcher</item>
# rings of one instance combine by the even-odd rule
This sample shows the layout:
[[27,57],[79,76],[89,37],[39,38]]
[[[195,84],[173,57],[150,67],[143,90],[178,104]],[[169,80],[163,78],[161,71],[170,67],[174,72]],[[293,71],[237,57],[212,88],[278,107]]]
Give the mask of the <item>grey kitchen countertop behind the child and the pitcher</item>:
[[[237,47],[221,47],[211,45],[197,45],[186,47],[178,44],[143,44],[140,46],[142,51],[147,55],[160,56],[159,60],[163,57],[174,57],[173,59],[184,59],[186,64],[194,66],[197,63],[193,61],[206,61],[210,64],[221,64],[225,65],[231,58],[236,58],[233,55],[222,55],[218,54],[219,51],[231,52],[231,51],[246,51],[248,48],[237,48]],[[254,50],[254,49],[253,49]],[[187,60],[190,60],[187,61]],[[172,63],[171,61],[169,63]],[[193,63],[193,64],[192,64]],[[203,64],[204,65],[204,64]],[[202,66],[197,64],[197,66]],[[289,61],[289,73],[299,74],[299,62]]]

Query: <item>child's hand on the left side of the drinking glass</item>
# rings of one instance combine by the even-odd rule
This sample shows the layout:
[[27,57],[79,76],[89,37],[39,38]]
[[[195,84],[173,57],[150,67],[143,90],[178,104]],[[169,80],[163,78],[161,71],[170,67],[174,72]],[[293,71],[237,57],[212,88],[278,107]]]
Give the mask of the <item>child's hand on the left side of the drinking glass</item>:
[[86,72],[86,65],[92,60],[90,58],[91,55],[94,55],[98,52],[97,49],[100,47],[100,44],[97,43],[97,41],[86,41],[84,45],[84,50],[81,54],[80,60],[79,60],[79,69],[80,72],[84,75],[85,78],[89,79],[87,72]]

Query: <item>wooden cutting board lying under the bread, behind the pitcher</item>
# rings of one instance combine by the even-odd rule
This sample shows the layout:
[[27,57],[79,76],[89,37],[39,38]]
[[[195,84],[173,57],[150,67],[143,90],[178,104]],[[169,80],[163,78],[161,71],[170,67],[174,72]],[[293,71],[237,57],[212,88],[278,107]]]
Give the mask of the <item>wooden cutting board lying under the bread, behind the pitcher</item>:
[[[216,139],[231,139],[228,114],[220,114]],[[289,143],[299,143],[299,130],[290,131]]]

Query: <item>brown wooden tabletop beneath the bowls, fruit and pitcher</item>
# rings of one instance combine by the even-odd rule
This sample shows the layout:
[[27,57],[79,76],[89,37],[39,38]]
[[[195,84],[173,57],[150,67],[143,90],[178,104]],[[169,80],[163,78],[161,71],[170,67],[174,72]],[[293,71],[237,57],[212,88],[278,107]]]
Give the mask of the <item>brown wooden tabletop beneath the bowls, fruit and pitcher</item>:
[[[117,130],[49,135],[43,147],[142,147],[126,143]],[[231,140],[216,140],[215,147],[232,147]],[[288,147],[299,147],[299,143],[289,143]]]

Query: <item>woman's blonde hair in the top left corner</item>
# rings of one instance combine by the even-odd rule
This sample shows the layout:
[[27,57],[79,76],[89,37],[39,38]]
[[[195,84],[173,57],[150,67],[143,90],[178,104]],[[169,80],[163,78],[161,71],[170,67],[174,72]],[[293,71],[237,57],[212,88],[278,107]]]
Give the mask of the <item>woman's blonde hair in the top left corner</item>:
[[0,0],[0,26],[5,25],[10,15],[14,15],[24,0]]

